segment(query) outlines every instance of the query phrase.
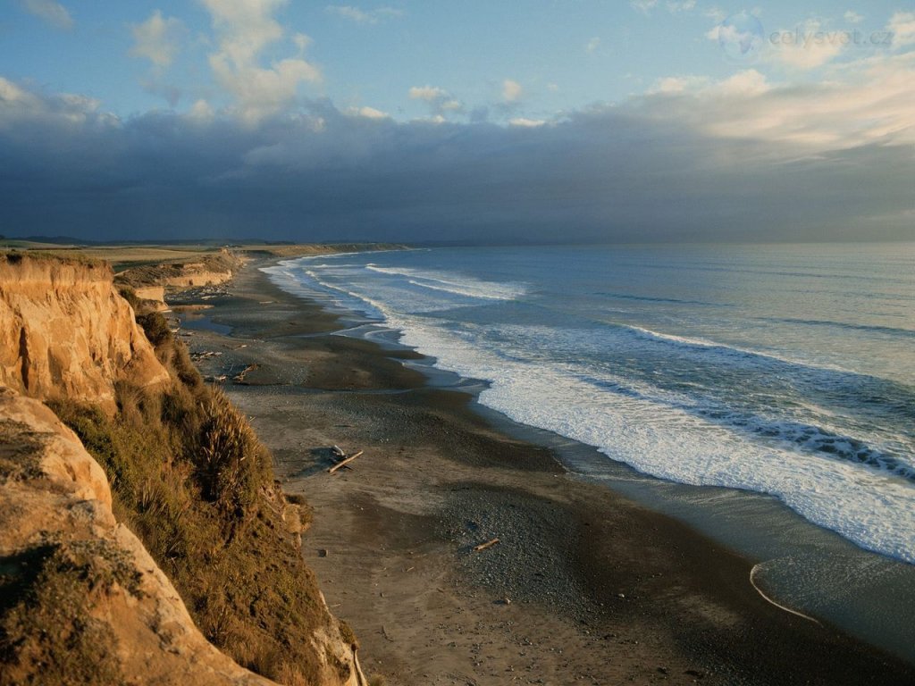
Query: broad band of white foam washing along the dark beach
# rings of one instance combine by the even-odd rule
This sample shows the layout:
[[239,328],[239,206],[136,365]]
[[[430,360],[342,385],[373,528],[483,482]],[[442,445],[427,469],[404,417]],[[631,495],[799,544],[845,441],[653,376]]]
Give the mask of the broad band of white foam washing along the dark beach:
[[406,345],[436,357],[436,366],[490,381],[480,402],[517,422],[595,445],[654,477],[770,493],[863,548],[915,563],[915,488],[902,478],[759,445],[682,410],[597,389],[540,363],[503,359],[409,317],[393,324],[403,327]]

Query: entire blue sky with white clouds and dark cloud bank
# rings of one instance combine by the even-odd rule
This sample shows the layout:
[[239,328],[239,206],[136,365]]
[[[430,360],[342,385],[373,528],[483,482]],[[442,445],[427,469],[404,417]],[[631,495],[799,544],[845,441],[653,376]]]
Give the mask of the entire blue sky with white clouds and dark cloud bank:
[[0,5],[6,236],[915,240],[913,198],[912,2]]

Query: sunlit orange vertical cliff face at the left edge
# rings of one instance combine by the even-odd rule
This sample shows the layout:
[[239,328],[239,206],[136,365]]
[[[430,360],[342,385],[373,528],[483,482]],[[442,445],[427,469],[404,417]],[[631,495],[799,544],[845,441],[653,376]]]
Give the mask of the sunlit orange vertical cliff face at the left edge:
[[113,412],[116,381],[167,380],[110,267],[0,256],[0,384]]

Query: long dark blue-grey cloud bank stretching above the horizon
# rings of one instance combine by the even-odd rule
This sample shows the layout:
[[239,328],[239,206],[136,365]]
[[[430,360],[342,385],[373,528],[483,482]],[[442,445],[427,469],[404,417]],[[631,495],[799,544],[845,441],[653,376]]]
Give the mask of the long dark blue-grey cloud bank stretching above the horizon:
[[[0,97],[0,233],[91,240],[906,240],[910,146],[794,155],[656,95],[539,127],[311,102],[245,126]],[[774,151],[774,152],[773,152]],[[908,218],[908,219],[907,219]]]

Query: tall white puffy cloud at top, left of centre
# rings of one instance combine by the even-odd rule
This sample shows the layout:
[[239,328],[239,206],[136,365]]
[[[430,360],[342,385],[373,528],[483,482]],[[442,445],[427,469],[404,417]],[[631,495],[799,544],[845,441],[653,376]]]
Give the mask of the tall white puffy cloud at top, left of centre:
[[219,48],[210,54],[210,69],[235,102],[236,112],[249,124],[280,112],[298,94],[302,83],[318,83],[318,67],[301,58],[307,37],[293,36],[299,57],[260,64],[264,48],[285,38],[274,12],[285,0],[201,0],[210,11]]

